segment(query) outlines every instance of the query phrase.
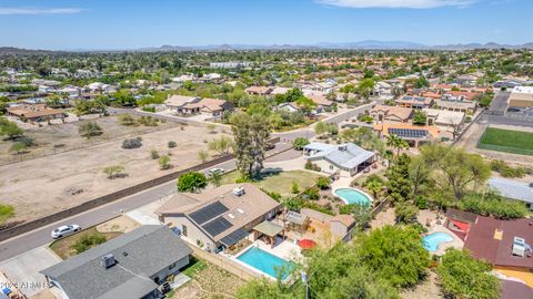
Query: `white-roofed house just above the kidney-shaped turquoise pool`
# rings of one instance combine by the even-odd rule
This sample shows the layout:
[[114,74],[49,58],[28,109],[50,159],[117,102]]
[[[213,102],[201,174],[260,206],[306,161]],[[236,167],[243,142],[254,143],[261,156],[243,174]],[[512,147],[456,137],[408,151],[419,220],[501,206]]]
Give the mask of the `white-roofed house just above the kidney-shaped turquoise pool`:
[[353,176],[374,162],[374,153],[353,143],[311,143],[303,147],[303,155],[322,172],[341,176]]

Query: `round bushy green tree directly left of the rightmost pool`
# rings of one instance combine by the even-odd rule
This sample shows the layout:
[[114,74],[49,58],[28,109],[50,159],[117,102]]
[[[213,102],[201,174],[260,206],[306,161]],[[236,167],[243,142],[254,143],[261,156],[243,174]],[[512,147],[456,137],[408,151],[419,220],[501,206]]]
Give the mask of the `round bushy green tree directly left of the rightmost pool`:
[[358,244],[363,266],[395,287],[416,285],[430,266],[429,252],[411,226],[384,226],[361,235]]

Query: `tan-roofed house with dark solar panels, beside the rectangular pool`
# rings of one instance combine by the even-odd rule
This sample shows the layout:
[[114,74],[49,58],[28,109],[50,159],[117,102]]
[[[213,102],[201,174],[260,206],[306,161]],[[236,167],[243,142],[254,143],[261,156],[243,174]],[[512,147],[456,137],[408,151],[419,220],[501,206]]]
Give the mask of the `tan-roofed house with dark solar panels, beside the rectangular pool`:
[[222,185],[204,193],[178,193],[155,213],[183,238],[205,250],[229,248],[249,238],[252,229],[282,210],[257,186]]

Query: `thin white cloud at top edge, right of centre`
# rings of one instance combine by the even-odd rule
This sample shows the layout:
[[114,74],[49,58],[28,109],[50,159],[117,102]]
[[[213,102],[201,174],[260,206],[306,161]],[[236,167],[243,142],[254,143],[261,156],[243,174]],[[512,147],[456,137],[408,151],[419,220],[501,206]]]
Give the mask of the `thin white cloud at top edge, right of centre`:
[[432,9],[440,7],[464,8],[477,0],[315,0],[319,3],[343,8],[410,8]]

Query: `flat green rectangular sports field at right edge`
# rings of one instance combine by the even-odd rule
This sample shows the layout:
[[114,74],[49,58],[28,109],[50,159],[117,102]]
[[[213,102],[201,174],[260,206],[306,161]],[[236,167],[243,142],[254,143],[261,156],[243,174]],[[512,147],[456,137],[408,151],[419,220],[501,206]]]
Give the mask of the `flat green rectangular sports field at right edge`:
[[533,133],[487,127],[477,148],[519,155],[533,155]]

